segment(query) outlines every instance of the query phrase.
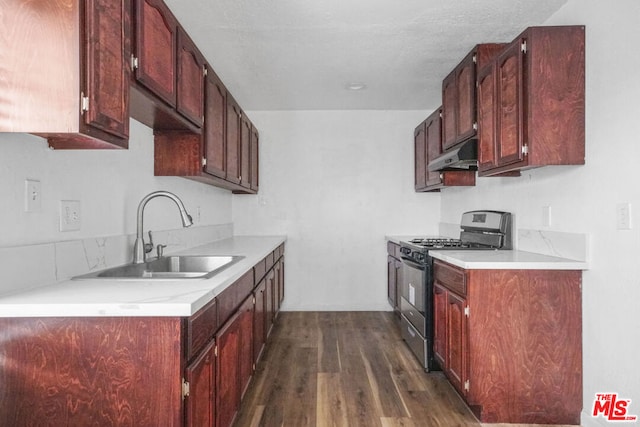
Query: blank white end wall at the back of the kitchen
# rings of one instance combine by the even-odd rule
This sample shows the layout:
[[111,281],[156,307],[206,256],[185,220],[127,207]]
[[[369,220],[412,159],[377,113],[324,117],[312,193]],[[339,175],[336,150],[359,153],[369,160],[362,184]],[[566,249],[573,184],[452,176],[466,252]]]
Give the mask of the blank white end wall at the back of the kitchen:
[[252,112],[260,193],[236,234],[286,234],[285,310],[388,310],[388,234],[436,234],[440,196],[413,191],[424,111]]

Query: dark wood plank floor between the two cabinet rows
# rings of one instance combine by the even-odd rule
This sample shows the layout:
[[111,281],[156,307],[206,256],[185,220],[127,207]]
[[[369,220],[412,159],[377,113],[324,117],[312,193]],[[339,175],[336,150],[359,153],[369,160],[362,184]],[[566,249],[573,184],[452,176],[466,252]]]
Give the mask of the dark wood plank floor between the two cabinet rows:
[[481,426],[389,312],[280,313],[234,425]]

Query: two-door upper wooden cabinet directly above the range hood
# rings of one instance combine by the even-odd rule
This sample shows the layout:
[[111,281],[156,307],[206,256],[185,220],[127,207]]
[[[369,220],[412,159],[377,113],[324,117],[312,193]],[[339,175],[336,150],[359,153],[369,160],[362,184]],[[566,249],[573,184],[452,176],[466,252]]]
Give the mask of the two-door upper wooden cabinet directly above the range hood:
[[504,47],[479,44],[442,81],[442,149],[476,135],[476,69],[489,63]]

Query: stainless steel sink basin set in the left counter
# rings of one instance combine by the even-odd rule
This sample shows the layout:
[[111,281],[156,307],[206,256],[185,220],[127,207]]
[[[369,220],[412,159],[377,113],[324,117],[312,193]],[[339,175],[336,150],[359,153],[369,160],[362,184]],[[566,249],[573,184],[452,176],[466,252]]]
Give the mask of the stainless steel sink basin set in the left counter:
[[239,255],[182,255],[157,258],[142,264],[126,264],[73,279],[176,280],[207,279],[240,261]]

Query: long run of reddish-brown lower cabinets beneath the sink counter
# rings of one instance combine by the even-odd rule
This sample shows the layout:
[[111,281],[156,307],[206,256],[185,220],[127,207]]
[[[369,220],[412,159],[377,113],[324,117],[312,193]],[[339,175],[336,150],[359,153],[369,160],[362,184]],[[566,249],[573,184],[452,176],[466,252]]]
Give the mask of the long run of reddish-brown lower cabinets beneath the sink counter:
[[188,318],[0,318],[2,425],[230,426],[280,307],[267,300],[284,296],[283,253],[269,280],[254,288],[252,269]]

